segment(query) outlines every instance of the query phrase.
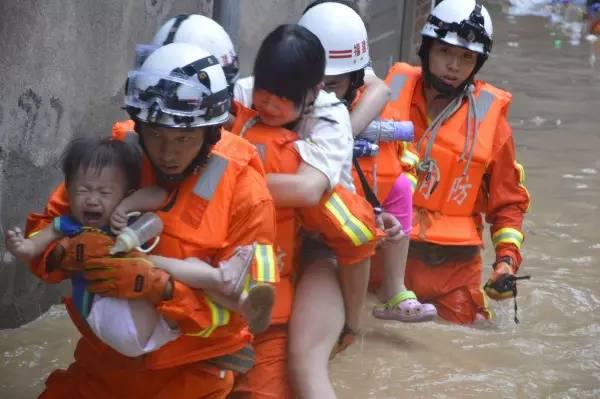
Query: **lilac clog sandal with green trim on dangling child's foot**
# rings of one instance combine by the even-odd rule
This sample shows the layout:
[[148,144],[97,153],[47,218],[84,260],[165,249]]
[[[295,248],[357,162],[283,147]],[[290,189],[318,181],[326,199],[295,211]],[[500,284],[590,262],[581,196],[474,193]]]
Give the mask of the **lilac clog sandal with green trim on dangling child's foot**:
[[431,321],[435,316],[435,306],[419,302],[415,293],[408,290],[397,293],[389,301],[373,309],[373,317],[377,319],[405,323]]

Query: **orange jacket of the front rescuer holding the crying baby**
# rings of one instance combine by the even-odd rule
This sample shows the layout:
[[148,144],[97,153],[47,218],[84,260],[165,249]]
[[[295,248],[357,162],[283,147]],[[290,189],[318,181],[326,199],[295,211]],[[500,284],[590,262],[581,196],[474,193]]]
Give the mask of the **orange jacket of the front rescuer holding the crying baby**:
[[[113,127],[113,137],[137,140],[133,123],[127,121],[116,124]],[[271,273],[272,276],[265,280],[278,280],[271,248],[275,235],[274,208],[263,176],[264,170],[255,149],[239,137],[223,132],[221,140],[211,151],[206,167],[200,173],[186,178],[171,194],[169,204],[158,212],[163,220],[164,230],[154,253],[177,259],[196,257],[214,265],[231,257],[237,246],[257,242],[259,246],[263,245],[263,249],[267,248],[267,256],[263,261],[267,263],[266,273]],[[242,179],[244,185],[248,186],[243,189],[240,187]],[[153,169],[147,160],[142,169],[142,181],[143,186],[154,184],[155,181]],[[240,195],[245,198],[240,198]],[[48,210],[58,214],[68,212],[68,202],[65,199],[64,185],[61,185],[50,199],[46,217],[32,215],[28,221],[28,229],[35,231],[47,224],[54,216],[48,214]],[[257,212],[247,214],[248,208],[240,206],[245,202],[253,203],[252,209]],[[255,263],[259,263],[259,259]],[[56,277],[41,271],[45,265],[32,267],[42,278],[56,280]],[[228,323],[211,331],[208,337],[197,336],[199,329],[209,327],[214,321],[215,315],[211,313],[216,310],[209,306],[209,310],[198,312],[198,308],[202,306],[196,305],[196,301],[206,307],[207,300],[202,291],[192,290],[175,282],[173,299],[157,305],[157,310],[165,317],[178,322],[184,334],[144,356],[146,367],[168,368],[211,359],[233,353],[249,342],[251,336],[246,330],[245,322],[235,313],[230,318],[227,316]],[[80,327],[83,340],[93,343],[99,352],[114,352],[101,344],[89,329],[81,328],[82,320],[70,308],[70,301],[66,301],[66,305],[73,321]],[[115,353],[110,355],[114,356]]]

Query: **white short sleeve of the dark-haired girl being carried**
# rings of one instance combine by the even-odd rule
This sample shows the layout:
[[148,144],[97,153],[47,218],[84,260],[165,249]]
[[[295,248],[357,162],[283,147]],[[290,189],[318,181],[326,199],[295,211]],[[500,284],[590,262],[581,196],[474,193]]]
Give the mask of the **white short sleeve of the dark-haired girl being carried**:
[[343,105],[331,106],[329,114],[302,123],[299,133],[303,139],[297,140],[294,147],[302,161],[327,176],[332,190],[340,182],[354,145],[348,110]]

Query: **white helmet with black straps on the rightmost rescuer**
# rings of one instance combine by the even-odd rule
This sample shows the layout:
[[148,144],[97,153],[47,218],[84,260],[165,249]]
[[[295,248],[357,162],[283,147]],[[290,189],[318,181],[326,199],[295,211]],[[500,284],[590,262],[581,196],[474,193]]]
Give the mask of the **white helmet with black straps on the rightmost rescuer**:
[[483,55],[492,49],[492,19],[475,0],[444,0],[427,19],[421,35]]

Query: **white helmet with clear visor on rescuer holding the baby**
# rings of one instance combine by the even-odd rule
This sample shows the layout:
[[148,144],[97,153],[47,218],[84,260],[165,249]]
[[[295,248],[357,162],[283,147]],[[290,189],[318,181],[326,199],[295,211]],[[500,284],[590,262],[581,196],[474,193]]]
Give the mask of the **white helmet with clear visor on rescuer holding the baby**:
[[132,117],[167,127],[219,125],[227,120],[229,91],[219,61],[199,47],[172,43],[129,72],[125,105]]

